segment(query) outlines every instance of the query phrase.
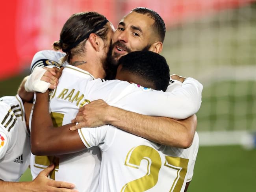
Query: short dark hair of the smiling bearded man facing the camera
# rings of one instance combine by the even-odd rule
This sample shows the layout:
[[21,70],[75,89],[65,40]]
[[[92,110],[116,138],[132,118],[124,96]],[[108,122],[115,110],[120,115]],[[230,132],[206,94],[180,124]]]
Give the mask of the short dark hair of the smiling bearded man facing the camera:
[[161,16],[156,13],[156,11],[153,11],[152,9],[148,9],[146,7],[137,7],[135,9],[132,9],[132,11],[136,12],[136,13],[140,13],[140,14],[147,14],[148,16],[150,16],[152,19],[154,19],[154,31],[157,32],[160,41],[163,42],[165,39],[165,22],[163,21],[163,18],[161,18]]

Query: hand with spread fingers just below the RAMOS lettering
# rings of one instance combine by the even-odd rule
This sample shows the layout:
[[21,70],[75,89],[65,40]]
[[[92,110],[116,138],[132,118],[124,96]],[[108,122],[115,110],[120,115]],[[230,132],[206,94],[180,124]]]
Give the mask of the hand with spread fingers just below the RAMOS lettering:
[[82,127],[99,127],[106,125],[106,114],[108,114],[109,105],[103,100],[95,100],[87,105],[81,107],[72,120],[72,123],[77,123],[76,126],[70,127],[71,131],[80,129]]

